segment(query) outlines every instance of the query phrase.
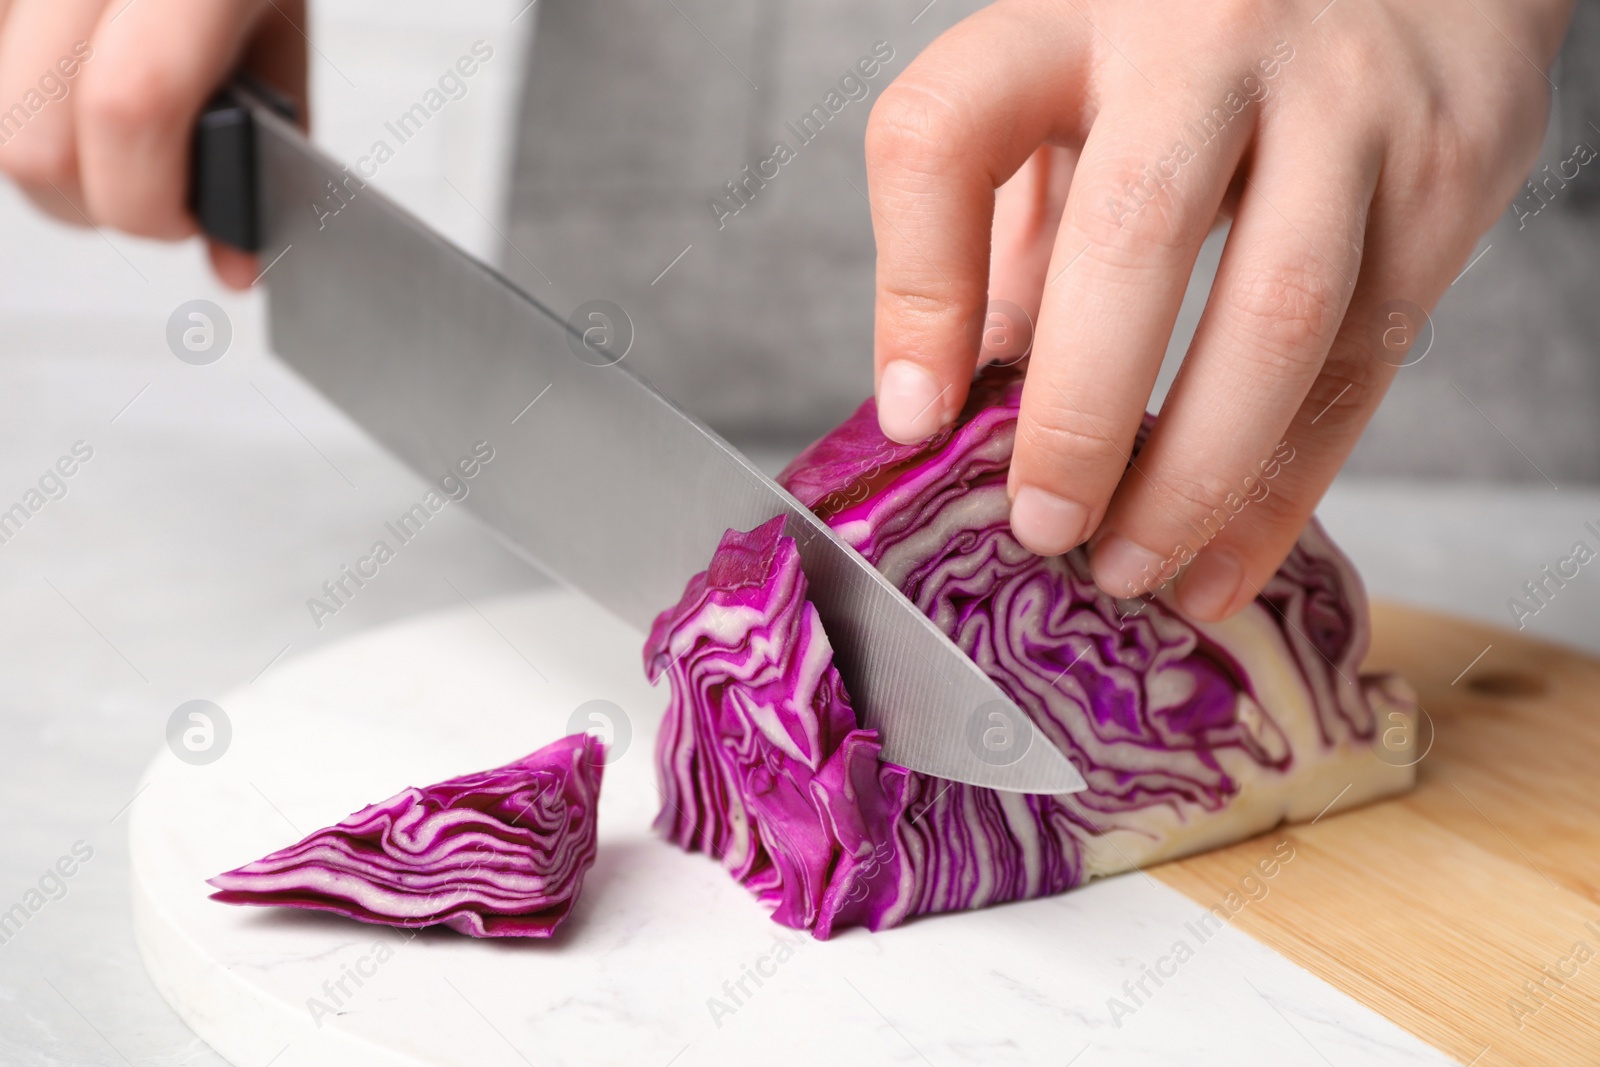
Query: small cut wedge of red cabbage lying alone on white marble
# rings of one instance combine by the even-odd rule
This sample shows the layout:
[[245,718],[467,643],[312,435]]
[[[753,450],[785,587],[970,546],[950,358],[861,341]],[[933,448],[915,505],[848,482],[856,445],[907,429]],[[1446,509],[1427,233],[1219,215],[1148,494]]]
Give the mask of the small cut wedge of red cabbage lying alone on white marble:
[[211,878],[211,899],[549,937],[595,861],[603,769],[600,741],[573,734],[491,771],[406,789]]

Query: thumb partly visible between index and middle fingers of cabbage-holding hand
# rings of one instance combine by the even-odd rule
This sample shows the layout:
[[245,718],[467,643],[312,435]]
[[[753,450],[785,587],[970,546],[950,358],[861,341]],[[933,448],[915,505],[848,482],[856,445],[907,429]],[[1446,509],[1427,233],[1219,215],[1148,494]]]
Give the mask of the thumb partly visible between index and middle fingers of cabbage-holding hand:
[[990,307],[995,301],[1006,301],[1022,309],[1029,323],[1038,322],[1050,254],[1061,229],[1061,211],[1067,205],[1075,163],[1077,152],[1072,149],[1042,146],[995,190],[989,250]]

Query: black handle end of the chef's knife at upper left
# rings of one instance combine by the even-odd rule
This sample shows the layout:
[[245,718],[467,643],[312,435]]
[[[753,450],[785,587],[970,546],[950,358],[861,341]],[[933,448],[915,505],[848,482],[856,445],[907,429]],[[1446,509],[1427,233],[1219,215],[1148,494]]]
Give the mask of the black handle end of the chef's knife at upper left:
[[200,114],[189,174],[189,210],[200,229],[206,237],[242,251],[261,251],[261,170],[256,165],[251,101],[294,122],[291,101],[254,78],[238,75]]

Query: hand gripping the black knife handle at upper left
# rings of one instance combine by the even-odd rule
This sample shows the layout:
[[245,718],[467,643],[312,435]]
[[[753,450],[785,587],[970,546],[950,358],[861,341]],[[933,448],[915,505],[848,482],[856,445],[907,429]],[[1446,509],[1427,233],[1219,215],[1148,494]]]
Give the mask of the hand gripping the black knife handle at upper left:
[[[181,240],[200,109],[243,67],[306,114],[304,0],[0,0],[0,170],[77,226]],[[234,288],[254,256],[211,245]]]

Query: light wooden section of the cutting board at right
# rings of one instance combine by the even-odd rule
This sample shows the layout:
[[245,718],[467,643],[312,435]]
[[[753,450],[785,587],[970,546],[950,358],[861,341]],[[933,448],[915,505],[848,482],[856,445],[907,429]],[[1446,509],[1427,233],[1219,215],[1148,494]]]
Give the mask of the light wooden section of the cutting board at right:
[[[1368,669],[1416,686],[1416,790],[1150,870],[1462,1064],[1600,1064],[1600,661],[1376,605]],[[1331,798],[1330,798],[1331,800]]]

